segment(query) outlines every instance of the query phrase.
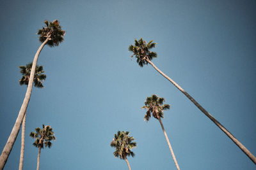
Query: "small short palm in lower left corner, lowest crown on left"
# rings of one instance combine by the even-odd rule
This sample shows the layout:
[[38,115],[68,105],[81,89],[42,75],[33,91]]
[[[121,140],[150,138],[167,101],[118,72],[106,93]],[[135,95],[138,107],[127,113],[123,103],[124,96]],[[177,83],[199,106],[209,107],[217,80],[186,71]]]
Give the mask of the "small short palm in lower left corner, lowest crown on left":
[[48,147],[51,148],[52,143],[51,140],[55,141],[55,136],[54,132],[52,132],[52,128],[50,125],[43,125],[43,129],[40,129],[40,127],[36,127],[35,129],[36,132],[31,132],[30,137],[35,139],[35,142],[33,145],[36,148],[39,148],[38,150],[38,156],[37,156],[37,167],[36,170],[39,169],[39,163],[40,163],[40,153],[41,153],[41,148]]

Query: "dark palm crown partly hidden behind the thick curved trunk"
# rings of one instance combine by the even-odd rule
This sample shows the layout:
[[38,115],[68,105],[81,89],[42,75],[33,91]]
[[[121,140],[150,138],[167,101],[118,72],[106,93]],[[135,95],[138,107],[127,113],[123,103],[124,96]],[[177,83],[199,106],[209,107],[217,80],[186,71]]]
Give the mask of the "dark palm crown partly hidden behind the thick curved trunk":
[[[19,66],[20,67],[20,73],[23,75],[22,78],[20,78],[20,85],[28,85],[29,82],[29,76],[31,73],[31,67],[32,62],[27,64],[26,66]],[[34,76],[34,85],[38,88],[44,88],[43,81],[46,78],[46,75],[44,73],[43,66],[37,66],[35,69],[35,76]]]

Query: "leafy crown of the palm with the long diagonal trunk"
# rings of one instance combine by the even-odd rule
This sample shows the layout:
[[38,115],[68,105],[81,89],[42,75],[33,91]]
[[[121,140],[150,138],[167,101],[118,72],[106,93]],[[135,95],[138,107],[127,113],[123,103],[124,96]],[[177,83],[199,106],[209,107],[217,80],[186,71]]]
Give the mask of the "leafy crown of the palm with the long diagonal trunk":
[[150,51],[150,49],[154,48],[156,44],[157,43],[153,43],[153,40],[147,43],[146,41],[143,41],[142,38],[139,41],[135,39],[134,45],[130,45],[128,48],[129,51],[133,53],[131,58],[135,55],[138,64],[143,67],[143,65],[148,64],[147,60],[152,60],[157,57],[156,52]]

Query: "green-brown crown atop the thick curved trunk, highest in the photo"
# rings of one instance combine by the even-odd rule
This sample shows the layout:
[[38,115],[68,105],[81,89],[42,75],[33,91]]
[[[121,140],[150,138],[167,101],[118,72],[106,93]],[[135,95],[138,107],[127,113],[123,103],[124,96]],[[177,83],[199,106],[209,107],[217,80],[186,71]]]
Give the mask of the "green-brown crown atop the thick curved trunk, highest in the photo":
[[58,46],[59,43],[64,41],[65,31],[61,29],[60,22],[58,20],[54,20],[49,22],[48,20],[44,21],[45,27],[39,29],[37,34],[40,35],[39,41],[43,43],[45,39],[50,38],[47,41],[47,45],[49,46]]

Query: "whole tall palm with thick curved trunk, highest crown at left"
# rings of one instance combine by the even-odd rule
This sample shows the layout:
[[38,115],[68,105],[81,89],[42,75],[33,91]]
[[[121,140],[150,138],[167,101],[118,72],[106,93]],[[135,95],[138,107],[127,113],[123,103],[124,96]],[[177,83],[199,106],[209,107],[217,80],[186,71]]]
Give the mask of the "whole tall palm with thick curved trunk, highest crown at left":
[[20,108],[19,115],[16,119],[15,125],[13,126],[12,132],[8,138],[6,145],[4,146],[3,152],[1,153],[0,169],[4,168],[4,165],[6,164],[6,161],[10,155],[10,152],[12,151],[12,147],[15,143],[15,140],[20,130],[20,125],[22,123],[22,120],[27,110],[29,99],[32,92],[32,86],[33,86],[33,80],[34,80],[38,55],[42,51],[45,45],[49,45],[51,47],[58,46],[64,40],[63,36],[65,35],[65,31],[61,30],[61,26],[58,20],[54,20],[53,22],[48,22],[46,20],[44,23],[46,27],[39,29],[39,31],[37,32],[37,34],[39,35],[39,41],[42,43],[42,45],[40,45],[40,47],[38,48],[35,54],[32,68],[31,68],[31,76],[29,76],[29,83],[26,91],[26,96]]

